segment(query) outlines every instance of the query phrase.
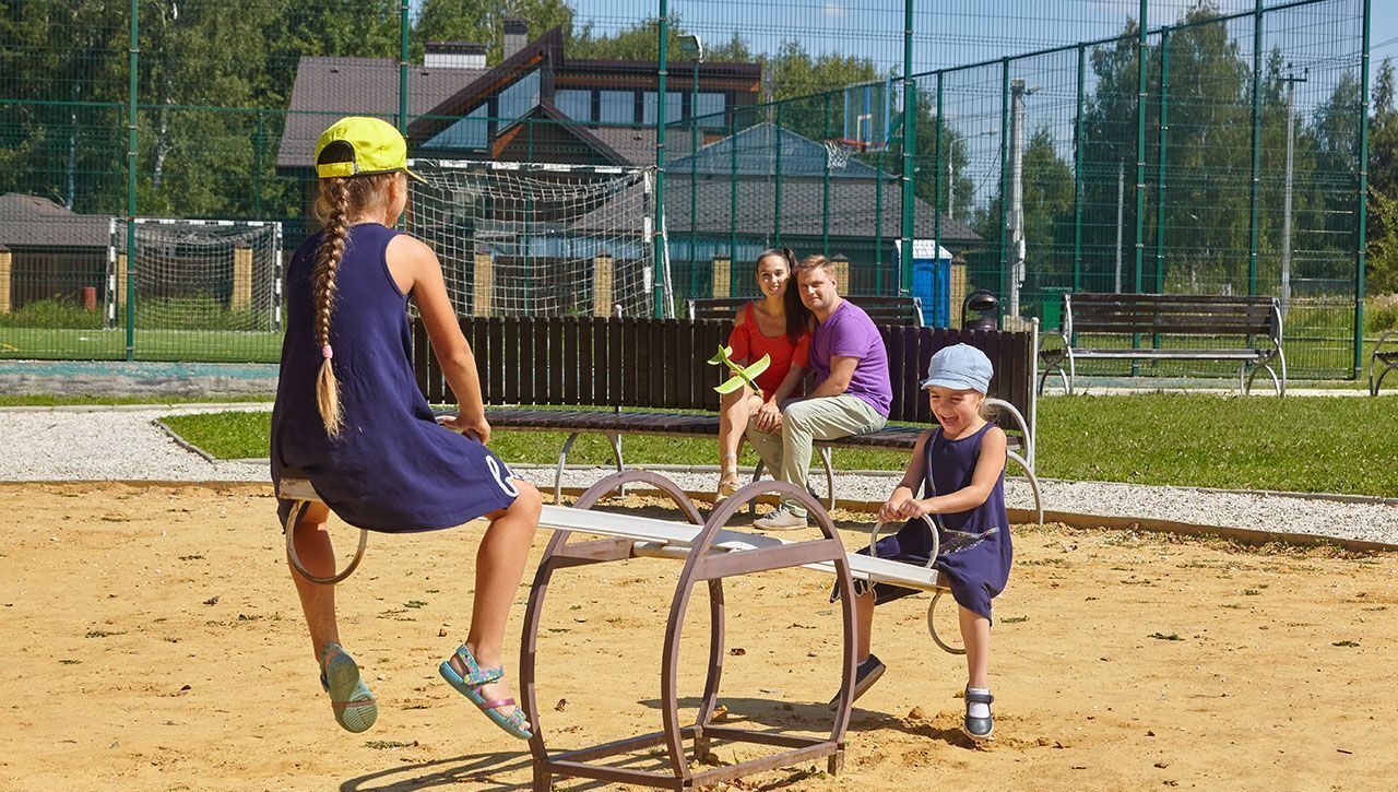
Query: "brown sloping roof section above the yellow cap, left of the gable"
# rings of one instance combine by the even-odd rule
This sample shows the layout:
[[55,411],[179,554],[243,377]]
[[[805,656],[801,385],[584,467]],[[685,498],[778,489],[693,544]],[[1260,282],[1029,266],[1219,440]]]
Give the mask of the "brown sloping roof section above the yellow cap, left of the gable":
[[[408,70],[408,115],[421,116],[487,74],[488,69]],[[303,56],[291,88],[287,127],[277,151],[278,168],[310,168],[316,140],[347,115],[398,118],[398,63],[387,57]]]

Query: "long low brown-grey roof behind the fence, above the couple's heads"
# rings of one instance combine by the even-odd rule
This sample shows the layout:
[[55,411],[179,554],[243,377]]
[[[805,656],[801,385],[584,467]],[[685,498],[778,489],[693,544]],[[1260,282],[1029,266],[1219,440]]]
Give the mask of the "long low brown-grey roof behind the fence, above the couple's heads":
[[[691,228],[707,236],[730,234],[733,207],[731,183],[727,178],[703,178],[696,183],[693,203],[698,207],[698,222],[691,222],[689,185],[686,172],[667,168],[665,176],[665,227],[674,238],[688,234]],[[898,238],[902,228],[902,201],[898,186],[882,182],[882,211],[878,208],[877,179],[830,179],[829,234],[840,238],[874,239],[882,235],[888,243]],[[640,188],[632,188],[640,189]],[[821,236],[825,222],[822,210],[825,185],[821,179],[781,181],[783,236]],[[624,196],[583,215],[576,222],[579,228],[628,228],[639,229],[640,218],[633,215],[635,196]],[[737,182],[737,231],[744,236],[770,236],[777,224],[776,182],[773,179],[738,179]],[[882,217],[882,224],[879,224]],[[960,246],[980,242],[979,234],[965,224],[942,215],[942,245]],[[937,232],[932,207],[927,201],[914,200],[913,234],[930,239]]]

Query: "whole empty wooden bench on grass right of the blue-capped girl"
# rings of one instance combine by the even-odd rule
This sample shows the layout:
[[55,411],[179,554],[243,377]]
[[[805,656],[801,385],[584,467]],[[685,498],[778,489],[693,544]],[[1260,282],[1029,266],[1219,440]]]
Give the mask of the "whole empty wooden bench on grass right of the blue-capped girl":
[[[1131,346],[1102,343],[1113,336],[1130,336]],[[1149,346],[1142,347],[1142,340]],[[1208,346],[1174,346],[1180,340]],[[1237,343],[1223,346],[1226,340]],[[1044,333],[1039,355],[1040,393],[1053,374],[1072,393],[1079,360],[1198,360],[1236,361],[1244,393],[1251,389],[1253,378],[1265,371],[1276,395],[1286,395],[1282,311],[1275,297],[1065,294],[1062,332]]]

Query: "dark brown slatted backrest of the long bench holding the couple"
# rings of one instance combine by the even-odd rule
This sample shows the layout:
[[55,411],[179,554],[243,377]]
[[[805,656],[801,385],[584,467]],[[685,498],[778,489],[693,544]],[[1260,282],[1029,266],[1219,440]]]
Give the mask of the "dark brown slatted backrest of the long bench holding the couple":
[[[487,404],[717,410],[727,371],[705,361],[726,343],[733,322],[593,316],[463,316]],[[995,367],[990,396],[1023,413],[1033,430],[1033,332],[879,326],[893,383],[893,421],[931,423],[918,383],[937,350],[967,343]],[[428,343],[412,323],[412,368],[433,403],[456,400]]]

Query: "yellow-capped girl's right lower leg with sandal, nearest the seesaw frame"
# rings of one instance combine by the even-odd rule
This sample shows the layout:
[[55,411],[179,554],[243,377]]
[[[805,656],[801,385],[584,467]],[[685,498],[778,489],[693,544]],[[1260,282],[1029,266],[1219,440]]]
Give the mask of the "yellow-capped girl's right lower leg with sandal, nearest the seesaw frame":
[[[500,665],[510,604],[524,577],[524,564],[528,561],[542,505],[533,484],[519,479],[513,483],[519,488],[519,497],[507,509],[487,515],[491,526],[485,529],[481,549],[475,553],[475,600],[471,603],[471,631],[466,637],[466,646],[481,667]],[[452,656],[452,667],[466,676],[466,667],[456,655]],[[509,698],[510,688],[502,680],[482,686],[481,695],[488,701]],[[498,709],[502,715],[514,711],[513,707]]]

